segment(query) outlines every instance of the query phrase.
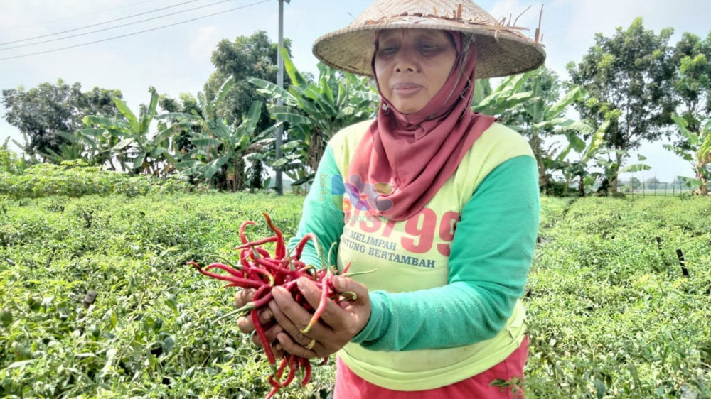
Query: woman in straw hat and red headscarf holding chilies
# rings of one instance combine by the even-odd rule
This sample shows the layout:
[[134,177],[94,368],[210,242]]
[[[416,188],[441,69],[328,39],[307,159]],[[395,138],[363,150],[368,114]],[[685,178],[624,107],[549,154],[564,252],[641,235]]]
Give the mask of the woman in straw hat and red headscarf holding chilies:
[[[278,349],[338,353],[335,398],[520,394],[528,339],[519,298],[538,231],[538,173],[525,139],[471,112],[475,77],[545,59],[515,29],[471,1],[377,0],[314,45],[326,64],[374,75],[382,101],[375,121],[329,142],[296,238],[336,243],[328,261],[340,269],[377,271],[334,279],[358,299],[329,302],[306,334],[311,315],[285,290],[273,290],[260,317],[277,323],[268,335]],[[321,265],[313,247],[304,258]],[[319,302],[316,285],[299,288]]]

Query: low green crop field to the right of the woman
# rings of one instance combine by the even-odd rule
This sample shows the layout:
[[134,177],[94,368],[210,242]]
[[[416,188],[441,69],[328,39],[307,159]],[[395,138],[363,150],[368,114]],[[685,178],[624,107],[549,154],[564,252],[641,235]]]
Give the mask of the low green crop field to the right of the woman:
[[711,203],[692,200],[543,200],[527,398],[709,397]]

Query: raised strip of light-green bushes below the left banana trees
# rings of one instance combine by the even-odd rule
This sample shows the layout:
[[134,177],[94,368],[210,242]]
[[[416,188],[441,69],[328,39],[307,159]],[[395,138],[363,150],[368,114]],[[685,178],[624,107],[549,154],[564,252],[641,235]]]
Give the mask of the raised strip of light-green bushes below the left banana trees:
[[125,173],[101,170],[82,161],[62,165],[41,163],[22,173],[0,169],[0,195],[22,199],[53,195],[146,195],[155,192],[185,192],[191,185],[179,177],[131,177]]

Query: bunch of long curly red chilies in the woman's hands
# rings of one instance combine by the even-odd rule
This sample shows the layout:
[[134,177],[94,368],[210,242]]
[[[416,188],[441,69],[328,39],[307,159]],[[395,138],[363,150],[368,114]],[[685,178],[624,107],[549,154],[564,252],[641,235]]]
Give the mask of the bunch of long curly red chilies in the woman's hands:
[[[315,268],[311,265],[306,265],[301,261],[301,253],[304,251],[304,246],[309,240],[313,240],[314,244],[318,246],[316,242],[316,236],[314,234],[306,234],[299,244],[296,244],[294,248],[294,253],[289,254],[287,251],[286,243],[284,242],[284,235],[277,226],[274,225],[272,219],[268,214],[262,213],[264,218],[267,219],[267,224],[269,229],[274,232],[274,236],[269,236],[264,239],[249,241],[245,235],[245,229],[247,226],[256,224],[251,220],[242,223],[240,226],[240,239],[242,240],[242,245],[237,246],[235,250],[240,251],[240,264],[231,265],[228,263],[212,263],[205,268],[201,267],[196,262],[188,262],[188,265],[194,266],[196,269],[208,275],[212,278],[217,278],[218,280],[224,280],[228,282],[225,287],[238,287],[238,288],[254,288],[256,289],[255,295],[252,297],[252,302],[248,303],[244,307],[236,310],[235,314],[247,315],[249,313],[252,318],[252,323],[255,325],[255,330],[257,336],[262,343],[264,348],[264,354],[266,354],[269,364],[276,366],[277,359],[274,358],[274,353],[272,351],[271,343],[267,339],[267,335],[264,333],[264,327],[259,322],[259,317],[257,313],[267,307],[267,304],[272,300],[272,288],[277,286],[282,286],[292,293],[292,297],[297,303],[304,306],[306,310],[314,310],[309,302],[306,302],[304,295],[301,294],[299,288],[296,287],[296,280],[298,278],[309,278],[316,282],[321,288],[321,301],[319,306],[314,310],[314,314],[311,317],[308,327],[302,332],[309,332],[311,327],[318,322],[321,313],[324,312],[326,307],[326,302],[330,300],[341,301],[345,299],[355,299],[352,297],[344,297],[338,294],[333,289],[333,270],[331,268]],[[269,253],[266,249],[262,248],[262,245],[267,243],[274,243],[274,256]],[[348,266],[344,268],[343,273],[348,272]],[[215,273],[209,271],[211,269],[220,269],[225,273]],[[348,293],[352,294],[352,293]],[[324,359],[324,363],[328,359]],[[289,372],[287,376],[284,377],[284,372],[289,367]],[[301,386],[305,386],[309,383],[311,378],[311,362],[309,359],[304,359],[299,356],[294,356],[293,354],[285,354],[284,357],[279,362],[279,366],[276,367],[274,373],[269,376],[269,384],[272,386],[272,390],[267,395],[267,399],[272,398],[272,396],[279,391],[279,389],[284,388],[289,385],[294,380],[296,373],[299,369],[304,371],[304,376],[301,378]]]

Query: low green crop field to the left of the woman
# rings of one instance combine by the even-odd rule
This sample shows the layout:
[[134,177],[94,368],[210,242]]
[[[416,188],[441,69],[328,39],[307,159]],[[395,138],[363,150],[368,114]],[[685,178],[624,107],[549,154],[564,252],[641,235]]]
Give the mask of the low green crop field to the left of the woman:
[[[215,322],[235,291],[185,263],[234,259],[240,221],[262,211],[293,235],[301,200],[0,197],[3,396],[263,398],[266,359],[236,323]],[[332,375],[314,367],[309,386],[279,398],[326,398]]]

